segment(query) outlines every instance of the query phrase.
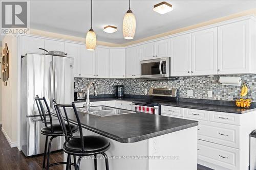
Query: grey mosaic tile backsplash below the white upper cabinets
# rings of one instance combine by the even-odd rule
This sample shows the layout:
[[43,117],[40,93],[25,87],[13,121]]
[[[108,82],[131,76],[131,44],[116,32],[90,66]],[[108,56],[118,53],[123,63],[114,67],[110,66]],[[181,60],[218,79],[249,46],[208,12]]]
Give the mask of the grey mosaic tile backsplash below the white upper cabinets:
[[[247,80],[252,90],[252,98],[256,98],[256,75],[232,75]],[[115,85],[124,85],[125,94],[144,94],[144,89],[150,87],[170,88],[180,90],[181,98],[211,99],[233,101],[239,96],[240,86],[228,86],[218,83],[219,76],[214,77],[181,77],[178,80],[147,81],[143,79],[91,79],[75,78],[75,91],[86,90],[90,82],[96,83],[98,94],[114,94]],[[187,96],[187,90],[193,90],[193,96]],[[208,98],[208,90],[212,91],[212,98]],[[91,89],[91,94],[93,90]]]

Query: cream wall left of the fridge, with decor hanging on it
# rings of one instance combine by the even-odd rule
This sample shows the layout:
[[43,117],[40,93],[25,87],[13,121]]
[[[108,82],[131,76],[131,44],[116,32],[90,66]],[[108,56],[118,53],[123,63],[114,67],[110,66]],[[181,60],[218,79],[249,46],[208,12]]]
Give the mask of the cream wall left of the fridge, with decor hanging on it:
[[10,78],[8,85],[2,82],[2,132],[5,134],[11,147],[17,146],[17,38],[6,36],[3,44],[7,43],[10,51]]

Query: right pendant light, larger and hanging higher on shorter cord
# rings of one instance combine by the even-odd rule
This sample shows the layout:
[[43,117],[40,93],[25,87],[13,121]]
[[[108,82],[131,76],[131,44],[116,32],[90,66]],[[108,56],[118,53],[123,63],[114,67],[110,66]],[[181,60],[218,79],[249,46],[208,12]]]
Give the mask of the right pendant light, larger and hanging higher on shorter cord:
[[131,0],[129,0],[129,10],[123,18],[123,37],[124,39],[133,39],[136,29],[136,19],[131,10]]

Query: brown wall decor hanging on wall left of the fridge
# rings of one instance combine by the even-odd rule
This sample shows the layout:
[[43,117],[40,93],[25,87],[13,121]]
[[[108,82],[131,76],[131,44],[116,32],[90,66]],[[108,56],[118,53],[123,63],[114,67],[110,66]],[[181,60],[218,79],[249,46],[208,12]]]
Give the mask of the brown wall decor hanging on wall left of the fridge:
[[7,86],[7,81],[9,80],[9,63],[10,63],[10,52],[8,50],[7,43],[5,43],[5,48],[3,50],[2,58],[2,80],[4,85]]

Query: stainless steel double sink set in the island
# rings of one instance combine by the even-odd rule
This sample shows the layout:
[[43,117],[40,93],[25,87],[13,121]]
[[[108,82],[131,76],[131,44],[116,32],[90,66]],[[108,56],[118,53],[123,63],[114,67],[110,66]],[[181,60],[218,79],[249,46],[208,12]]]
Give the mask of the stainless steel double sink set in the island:
[[77,108],[77,111],[84,112],[87,114],[92,114],[99,117],[135,113],[134,111],[117,109],[117,108],[108,107],[108,106],[93,106],[89,108],[89,111],[86,111],[85,108]]

